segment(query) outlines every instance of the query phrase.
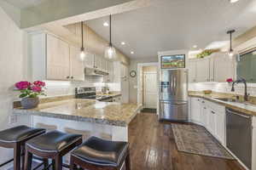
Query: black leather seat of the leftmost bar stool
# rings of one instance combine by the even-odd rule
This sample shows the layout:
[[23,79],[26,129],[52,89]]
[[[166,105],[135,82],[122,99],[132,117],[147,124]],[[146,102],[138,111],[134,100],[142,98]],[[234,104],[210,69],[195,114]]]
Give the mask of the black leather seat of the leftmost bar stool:
[[37,136],[44,132],[44,128],[32,128],[27,126],[12,127],[0,132],[0,142],[16,143],[30,139],[32,136]]

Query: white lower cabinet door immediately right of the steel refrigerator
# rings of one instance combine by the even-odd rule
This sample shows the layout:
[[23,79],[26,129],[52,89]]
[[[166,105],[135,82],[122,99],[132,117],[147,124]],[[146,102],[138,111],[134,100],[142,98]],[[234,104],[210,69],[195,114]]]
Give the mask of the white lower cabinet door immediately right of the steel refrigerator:
[[201,123],[201,99],[191,98],[191,120]]

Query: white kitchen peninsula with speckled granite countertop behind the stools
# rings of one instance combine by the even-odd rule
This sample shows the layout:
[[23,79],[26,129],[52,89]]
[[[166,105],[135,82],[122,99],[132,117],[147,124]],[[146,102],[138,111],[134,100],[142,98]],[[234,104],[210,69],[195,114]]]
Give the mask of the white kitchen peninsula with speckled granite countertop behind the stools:
[[65,99],[43,103],[31,110],[15,108],[13,114],[29,116],[33,127],[82,133],[84,139],[94,135],[103,139],[128,141],[128,125],[138,109],[135,104]]

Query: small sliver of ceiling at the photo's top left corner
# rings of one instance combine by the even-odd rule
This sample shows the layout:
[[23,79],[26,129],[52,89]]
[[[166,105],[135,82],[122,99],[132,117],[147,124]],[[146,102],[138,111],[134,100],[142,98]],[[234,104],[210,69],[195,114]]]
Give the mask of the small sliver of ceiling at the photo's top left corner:
[[42,3],[45,0],[4,0],[7,3],[14,5],[16,8],[28,8],[39,3]]

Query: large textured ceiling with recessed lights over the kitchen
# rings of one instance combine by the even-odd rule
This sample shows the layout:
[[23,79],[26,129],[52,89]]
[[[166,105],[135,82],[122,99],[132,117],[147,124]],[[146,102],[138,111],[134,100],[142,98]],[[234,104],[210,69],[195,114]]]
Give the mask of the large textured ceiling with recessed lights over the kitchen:
[[[256,26],[256,0],[152,0],[152,5],[113,15],[113,44],[131,59],[156,57],[158,51],[205,48]],[[108,17],[86,23],[108,39]],[[125,42],[125,46],[120,42]],[[134,51],[135,54],[130,52]]]

